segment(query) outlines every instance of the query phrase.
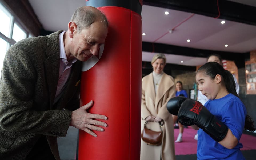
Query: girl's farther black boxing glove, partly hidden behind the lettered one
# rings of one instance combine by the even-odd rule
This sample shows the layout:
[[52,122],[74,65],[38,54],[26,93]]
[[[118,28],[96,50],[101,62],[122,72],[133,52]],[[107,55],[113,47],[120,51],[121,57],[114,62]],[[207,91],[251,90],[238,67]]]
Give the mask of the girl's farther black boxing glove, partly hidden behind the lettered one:
[[181,107],[181,104],[186,100],[187,98],[184,96],[177,96],[177,97],[173,97],[171,98],[168,102],[167,102],[167,110],[169,113],[173,114],[173,115],[177,115],[179,108]]

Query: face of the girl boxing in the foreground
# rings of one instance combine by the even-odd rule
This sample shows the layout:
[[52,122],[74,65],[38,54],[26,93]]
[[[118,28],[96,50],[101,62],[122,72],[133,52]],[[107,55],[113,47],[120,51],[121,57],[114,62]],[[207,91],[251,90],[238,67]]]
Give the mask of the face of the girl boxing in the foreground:
[[195,79],[198,83],[198,89],[202,92],[207,99],[218,99],[218,89],[219,85],[216,83],[216,79],[211,79],[209,76],[206,76],[203,72],[198,72],[195,76]]

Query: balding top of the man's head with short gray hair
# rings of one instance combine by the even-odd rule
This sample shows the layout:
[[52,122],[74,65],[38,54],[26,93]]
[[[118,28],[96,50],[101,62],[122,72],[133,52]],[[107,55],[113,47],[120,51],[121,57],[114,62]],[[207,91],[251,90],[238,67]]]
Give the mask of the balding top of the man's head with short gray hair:
[[75,22],[77,25],[77,32],[79,33],[81,30],[86,29],[98,20],[104,22],[105,25],[108,26],[107,18],[101,11],[97,13],[93,9],[79,7],[72,15],[70,21]]

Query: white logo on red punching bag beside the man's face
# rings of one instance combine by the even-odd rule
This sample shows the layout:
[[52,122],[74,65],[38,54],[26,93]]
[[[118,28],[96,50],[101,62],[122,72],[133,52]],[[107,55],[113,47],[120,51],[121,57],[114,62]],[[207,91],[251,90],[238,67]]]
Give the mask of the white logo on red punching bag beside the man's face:
[[97,56],[93,55],[87,61],[82,62],[82,72],[91,69],[91,67],[93,67],[99,61],[99,59],[102,56],[103,50],[104,50],[104,44],[101,45],[101,47],[99,48]]

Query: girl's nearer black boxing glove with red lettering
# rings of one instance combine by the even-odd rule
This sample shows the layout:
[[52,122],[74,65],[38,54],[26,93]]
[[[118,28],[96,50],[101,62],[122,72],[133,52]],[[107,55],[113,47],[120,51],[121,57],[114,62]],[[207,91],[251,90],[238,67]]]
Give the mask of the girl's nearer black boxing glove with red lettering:
[[185,100],[178,112],[178,121],[182,125],[197,125],[205,133],[219,142],[225,138],[228,127],[210,113],[199,101]]

